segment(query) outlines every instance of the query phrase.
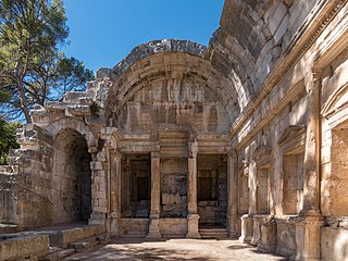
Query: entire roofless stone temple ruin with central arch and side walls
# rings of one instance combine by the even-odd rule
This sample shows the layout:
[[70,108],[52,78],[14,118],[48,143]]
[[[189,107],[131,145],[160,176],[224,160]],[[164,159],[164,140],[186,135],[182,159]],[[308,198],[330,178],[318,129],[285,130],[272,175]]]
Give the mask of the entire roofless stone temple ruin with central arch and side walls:
[[348,259],[347,2],[226,0],[209,47],[140,45],[36,108],[1,169],[0,229],[219,228],[296,260]]

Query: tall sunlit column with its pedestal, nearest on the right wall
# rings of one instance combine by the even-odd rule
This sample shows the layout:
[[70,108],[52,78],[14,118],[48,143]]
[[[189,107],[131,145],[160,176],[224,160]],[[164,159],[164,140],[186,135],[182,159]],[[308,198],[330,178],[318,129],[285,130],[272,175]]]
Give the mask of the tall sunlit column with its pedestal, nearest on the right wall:
[[303,170],[303,207],[296,219],[296,260],[321,259],[321,226],[324,217],[320,213],[321,188],[321,115],[320,74],[309,74],[306,78],[310,89],[309,117],[307,124],[304,170]]

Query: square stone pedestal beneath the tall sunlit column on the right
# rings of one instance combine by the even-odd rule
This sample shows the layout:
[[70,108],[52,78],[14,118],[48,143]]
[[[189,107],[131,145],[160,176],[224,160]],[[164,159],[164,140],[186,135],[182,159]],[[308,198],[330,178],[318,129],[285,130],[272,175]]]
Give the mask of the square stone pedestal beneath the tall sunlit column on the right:
[[296,217],[296,260],[321,260],[321,227],[323,216]]

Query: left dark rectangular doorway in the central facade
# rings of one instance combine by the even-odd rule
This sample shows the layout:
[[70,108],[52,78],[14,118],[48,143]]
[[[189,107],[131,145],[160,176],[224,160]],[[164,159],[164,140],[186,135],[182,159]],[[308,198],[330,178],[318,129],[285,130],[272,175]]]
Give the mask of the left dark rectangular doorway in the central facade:
[[149,217],[151,200],[150,154],[124,154],[121,179],[122,217]]

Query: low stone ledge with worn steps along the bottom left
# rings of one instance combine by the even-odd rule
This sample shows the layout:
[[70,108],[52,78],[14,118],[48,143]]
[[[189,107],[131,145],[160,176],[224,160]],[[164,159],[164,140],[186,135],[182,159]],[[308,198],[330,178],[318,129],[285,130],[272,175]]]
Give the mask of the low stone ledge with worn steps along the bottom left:
[[0,260],[57,261],[108,244],[110,239],[103,225],[77,223],[2,234]]

